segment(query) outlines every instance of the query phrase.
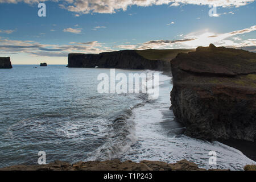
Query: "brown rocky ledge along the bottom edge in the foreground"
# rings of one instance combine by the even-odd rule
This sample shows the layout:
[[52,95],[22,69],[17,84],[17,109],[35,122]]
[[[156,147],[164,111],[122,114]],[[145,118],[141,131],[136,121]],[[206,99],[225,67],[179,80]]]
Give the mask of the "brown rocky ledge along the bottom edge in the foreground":
[[[67,162],[61,162],[55,160],[54,163],[46,165],[35,166],[10,166],[0,169],[0,171],[205,171],[205,169],[199,168],[195,163],[188,162],[187,160],[180,160],[174,164],[168,164],[164,162],[143,160],[140,163],[127,160],[126,162],[120,162],[119,160],[107,160],[107,161],[90,161],[90,162],[78,162],[75,164],[69,164]],[[211,169],[218,170],[218,169]]]

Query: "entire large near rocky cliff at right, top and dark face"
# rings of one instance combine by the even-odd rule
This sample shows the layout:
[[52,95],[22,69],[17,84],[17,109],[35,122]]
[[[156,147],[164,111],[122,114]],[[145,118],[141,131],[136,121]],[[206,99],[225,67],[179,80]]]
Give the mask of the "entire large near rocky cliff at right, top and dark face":
[[190,137],[256,139],[256,53],[198,47],[171,61],[172,109]]

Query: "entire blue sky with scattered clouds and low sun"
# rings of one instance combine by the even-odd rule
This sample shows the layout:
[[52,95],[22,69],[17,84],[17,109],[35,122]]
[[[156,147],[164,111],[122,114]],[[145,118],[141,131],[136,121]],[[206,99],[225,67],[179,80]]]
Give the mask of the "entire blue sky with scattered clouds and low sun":
[[256,52],[255,17],[254,0],[0,0],[0,57],[67,64],[68,53],[210,43]]

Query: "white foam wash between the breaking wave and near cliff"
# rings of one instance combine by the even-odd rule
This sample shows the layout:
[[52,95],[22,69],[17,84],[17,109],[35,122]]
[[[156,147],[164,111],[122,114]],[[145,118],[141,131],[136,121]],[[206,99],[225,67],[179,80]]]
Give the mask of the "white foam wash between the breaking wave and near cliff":
[[[241,151],[219,142],[205,142],[181,135],[170,135],[170,128],[163,124],[171,124],[174,115],[164,117],[163,112],[170,112],[171,77],[160,75],[162,85],[159,86],[160,97],[154,102],[133,110],[136,140],[131,148],[122,155],[123,160],[160,160],[174,163],[187,159],[204,168],[229,168],[241,170],[246,164],[255,163]],[[163,118],[164,117],[164,118]],[[164,119],[164,120],[163,120]],[[169,123],[170,122],[170,123]],[[209,164],[209,151],[217,152],[217,165]]]

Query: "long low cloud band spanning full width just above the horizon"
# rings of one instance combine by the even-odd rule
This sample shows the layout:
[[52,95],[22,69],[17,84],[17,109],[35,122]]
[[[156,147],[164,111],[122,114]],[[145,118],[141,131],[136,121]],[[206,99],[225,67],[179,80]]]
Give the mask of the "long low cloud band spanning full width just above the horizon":
[[[170,49],[170,48],[196,48],[198,46],[209,46],[214,43],[216,46],[242,48],[255,52],[256,39],[246,39],[238,37],[256,30],[256,26],[227,32],[224,34],[214,34],[208,30],[191,32],[183,35],[183,39],[177,40],[150,40],[139,44],[129,42],[118,45],[115,43],[112,48],[106,47],[104,43],[97,41],[90,42],[70,42],[68,44],[42,44],[31,40],[10,40],[0,37],[0,54],[26,53],[38,56],[67,56],[68,53],[100,53],[120,49]],[[243,36],[241,36],[243,37]],[[129,43],[129,44],[128,44]]]

